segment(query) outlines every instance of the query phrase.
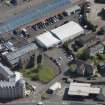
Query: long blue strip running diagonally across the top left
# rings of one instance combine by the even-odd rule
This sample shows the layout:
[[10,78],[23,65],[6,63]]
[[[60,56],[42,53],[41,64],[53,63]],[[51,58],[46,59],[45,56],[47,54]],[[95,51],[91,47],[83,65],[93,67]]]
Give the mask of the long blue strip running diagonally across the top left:
[[70,0],[51,0],[38,7],[27,9],[27,11],[8,19],[0,25],[0,34],[13,30],[21,25],[28,24],[36,19],[51,14],[60,7],[68,5]]

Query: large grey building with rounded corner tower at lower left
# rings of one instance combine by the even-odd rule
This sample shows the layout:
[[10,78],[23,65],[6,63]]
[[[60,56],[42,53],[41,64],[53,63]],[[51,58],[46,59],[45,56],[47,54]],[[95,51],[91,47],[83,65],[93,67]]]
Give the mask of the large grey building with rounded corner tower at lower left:
[[25,81],[21,73],[12,72],[0,63],[0,99],[24,97],[25,90]]

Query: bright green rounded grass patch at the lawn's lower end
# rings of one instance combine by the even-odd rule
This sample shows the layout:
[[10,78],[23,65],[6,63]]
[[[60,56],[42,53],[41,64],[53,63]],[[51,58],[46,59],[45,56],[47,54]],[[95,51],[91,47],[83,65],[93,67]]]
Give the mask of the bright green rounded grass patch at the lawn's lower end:
[[42,83],[48,83],[50,80],[52,80],[55,76],[55,72],[50,67],[41,67],[38,72],[39,80]]

